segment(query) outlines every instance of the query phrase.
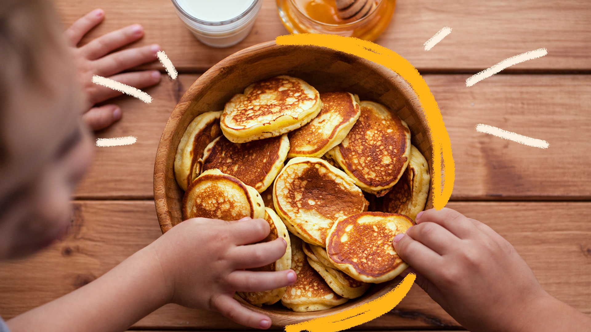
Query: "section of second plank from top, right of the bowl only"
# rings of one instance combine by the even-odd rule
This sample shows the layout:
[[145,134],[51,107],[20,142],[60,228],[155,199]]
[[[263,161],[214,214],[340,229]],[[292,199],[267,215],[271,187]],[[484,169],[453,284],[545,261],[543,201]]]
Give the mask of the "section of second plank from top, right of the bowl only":
[[[456,161],[452,199],[589,199],[591,76],[424,76],[439,103]],[[532,148],[476,132],[478,123],[544,139]]]

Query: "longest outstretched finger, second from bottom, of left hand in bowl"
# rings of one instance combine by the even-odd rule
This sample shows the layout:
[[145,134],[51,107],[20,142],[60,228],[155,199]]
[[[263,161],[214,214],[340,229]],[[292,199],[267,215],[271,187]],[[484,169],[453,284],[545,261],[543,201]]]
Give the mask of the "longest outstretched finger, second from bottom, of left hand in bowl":
[[291,269],[274,272],[234,271],[228,275],[228,284],[239,292],[264,292],[291,285],[296,279],[296,272]]

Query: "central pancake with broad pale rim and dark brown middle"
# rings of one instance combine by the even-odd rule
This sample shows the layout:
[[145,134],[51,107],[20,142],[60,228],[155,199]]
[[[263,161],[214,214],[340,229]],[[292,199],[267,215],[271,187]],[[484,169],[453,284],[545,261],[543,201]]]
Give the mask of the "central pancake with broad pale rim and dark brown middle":
[[287,229],[317,246],[325,246],[333,223],[368,206],[345,172],[309,157],[296,157],[285,165],[275,179],[273,202]]

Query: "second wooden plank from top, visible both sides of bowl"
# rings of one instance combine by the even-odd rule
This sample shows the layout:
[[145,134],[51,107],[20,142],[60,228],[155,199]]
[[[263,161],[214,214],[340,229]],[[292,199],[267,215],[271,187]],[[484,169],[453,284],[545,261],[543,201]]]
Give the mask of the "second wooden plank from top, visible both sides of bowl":
[[[456,162],[453,200],[591,198],[589,75],[496,75],[467,88],[467,75],[425,75],[439,103]],[[135,135],[123,147],[96,148],[96,160],[78,198],[150,198],[155,151],[178,97],[197,79],[163,77],[147,89],[150,105],[115,100],[124,117],[99,137]],[[477,123],[545,139],[527,147],[475,131]],[[576,135],[576,136],[575,136]]]

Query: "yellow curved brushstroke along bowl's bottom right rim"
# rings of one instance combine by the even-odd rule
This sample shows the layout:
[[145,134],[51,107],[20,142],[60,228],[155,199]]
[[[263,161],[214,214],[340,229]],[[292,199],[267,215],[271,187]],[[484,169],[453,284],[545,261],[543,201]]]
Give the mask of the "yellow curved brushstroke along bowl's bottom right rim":
[[358,305],[342,313],[288,325],[285,327],[285,332],[300,332],[303,330],[309,332],[336,332],[367,323],[392,310],[407,295],[416,278],[417,275],[410,273],[402,279],[402,282],[397,287],[374,301]]

